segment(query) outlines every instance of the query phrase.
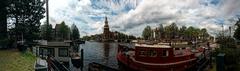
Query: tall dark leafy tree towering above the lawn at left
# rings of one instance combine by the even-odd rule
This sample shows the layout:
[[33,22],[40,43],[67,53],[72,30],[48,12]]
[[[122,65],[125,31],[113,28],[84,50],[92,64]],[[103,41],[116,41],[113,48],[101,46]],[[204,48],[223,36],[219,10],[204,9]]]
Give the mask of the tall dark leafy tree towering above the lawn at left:
[[[43,0],[11,0],[7,7],[8,17],[14,21],[14,32],[17,40],[24,38],[27,43],[39,37],[40,20],[44,18]],[[23,37],[22,37],[23,36]],[[31,46],[31,45],[30,45]]]

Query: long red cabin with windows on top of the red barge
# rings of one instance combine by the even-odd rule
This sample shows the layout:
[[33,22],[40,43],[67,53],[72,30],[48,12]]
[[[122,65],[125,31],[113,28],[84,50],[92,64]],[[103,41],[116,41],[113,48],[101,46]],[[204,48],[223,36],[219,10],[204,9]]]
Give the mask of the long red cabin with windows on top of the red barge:
[[148,63],[169,63],[194,58],[194,54],[186,47],[172,47],[169,45],[135,44],[135,59]]

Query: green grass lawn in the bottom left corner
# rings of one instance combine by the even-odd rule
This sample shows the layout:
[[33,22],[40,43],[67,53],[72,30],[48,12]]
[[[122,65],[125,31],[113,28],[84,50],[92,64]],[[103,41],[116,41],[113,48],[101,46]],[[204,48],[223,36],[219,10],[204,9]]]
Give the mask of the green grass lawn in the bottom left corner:
[[0,71],[34,71],[36,57],[17,49],[0,50]]

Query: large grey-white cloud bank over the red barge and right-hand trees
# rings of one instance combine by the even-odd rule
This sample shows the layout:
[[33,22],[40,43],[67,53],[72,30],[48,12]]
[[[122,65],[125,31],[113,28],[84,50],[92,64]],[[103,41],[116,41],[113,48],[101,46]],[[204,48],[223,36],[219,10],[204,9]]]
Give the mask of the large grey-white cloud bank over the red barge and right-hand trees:
[[[135,10],[116,17],[114,27],[137,35],[141,31],[132,30],[141,25],[154,26],[155,24],[169,24],[176,22],[179,26],[187,25],[199,28],[207,28],[211,34],[220,31],[221,23],[228,27],[234,22],[229,22],[228,17],[239,13],[239,1],[226,0],[229,2],[221,5],[202,5],[202,0],[144,0]],[[232,5],[232,2],[236,2]],[[210,2],[209,2],[210,3]],[[221,2],[219,2],[221,3]],[[230,9],[229,9],[230,8]],[[216,19],[223,19],[219,22]],[[228,24],[228,25],[226,25]],[[129,29],[129,30],[128,30]],[[141,27],[144,29],[144,27]]]

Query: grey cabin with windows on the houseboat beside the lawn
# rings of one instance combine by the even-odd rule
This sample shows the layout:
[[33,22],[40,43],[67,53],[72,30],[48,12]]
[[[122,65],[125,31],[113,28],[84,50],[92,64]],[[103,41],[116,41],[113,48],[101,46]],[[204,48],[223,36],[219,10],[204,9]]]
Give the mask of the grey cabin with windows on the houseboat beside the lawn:
[[43,41],[40,43],[40,46],[35,48],[35,53],[41,58],[46,58],[48,55],[51,55],[58,61],[68,62],[70,60],[70,48],[70,42],[68,41]]

